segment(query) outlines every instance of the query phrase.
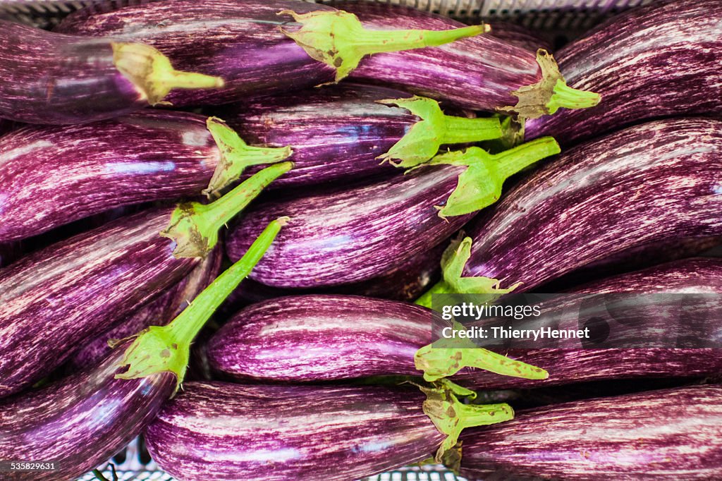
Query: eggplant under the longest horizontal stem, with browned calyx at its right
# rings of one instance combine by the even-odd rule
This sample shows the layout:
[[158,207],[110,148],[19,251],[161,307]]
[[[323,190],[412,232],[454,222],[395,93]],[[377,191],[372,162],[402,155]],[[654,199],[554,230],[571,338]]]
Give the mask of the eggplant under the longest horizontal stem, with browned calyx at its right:
[[[388,3],[355,2],[344,9],[380,28],[453,28],[462,25],[440,15]],[[541,45],[539,45],[541,46]],[[367,58],[349,79],[383,83],[473,110],[500,110],[523,118],[553,114],[559,108],[599,103],[593,92],[567,87],[554,58],[528,45],[479,35],[442,45]]]

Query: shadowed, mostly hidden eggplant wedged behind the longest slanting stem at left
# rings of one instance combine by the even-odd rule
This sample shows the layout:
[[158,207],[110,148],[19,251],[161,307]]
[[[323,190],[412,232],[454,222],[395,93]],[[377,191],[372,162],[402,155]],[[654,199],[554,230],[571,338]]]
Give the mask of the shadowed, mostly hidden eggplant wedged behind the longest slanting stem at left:
[[69,370],[72,372],[98,363],[112,350],[108,345],[108,341],[111,339],[126,339],[138,334],[148,326],[163,326],[168,321],[175,319],[183,309],[188,307],[188,303],[192,302],[196,295],[199,295],[217,277],[221,261],[222,247],[216,246],[177,285],[149,301],[113,329],[84,342],[83,347],[69,359],[67,366]]

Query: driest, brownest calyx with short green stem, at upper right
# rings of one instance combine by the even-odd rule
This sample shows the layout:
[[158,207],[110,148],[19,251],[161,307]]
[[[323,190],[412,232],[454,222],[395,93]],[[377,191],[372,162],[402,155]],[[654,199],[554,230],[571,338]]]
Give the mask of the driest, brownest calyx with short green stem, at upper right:
[[567,86],[554,57],[540,48],[536,51],[536,62],[541,69],[541,80],[511,92],[518,98],[513,107],[498,110],[520,118],[539,118],[552,115],[560,108],[589,108],[601,101],[601,95]]

